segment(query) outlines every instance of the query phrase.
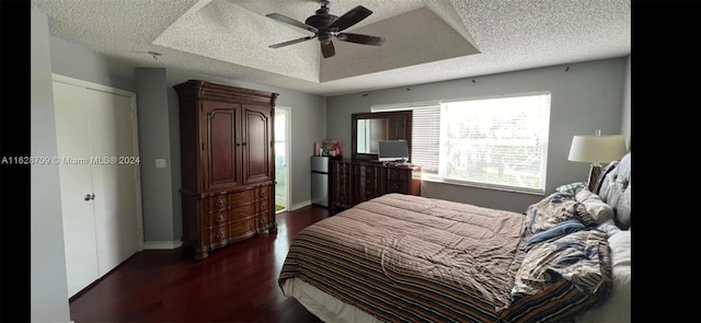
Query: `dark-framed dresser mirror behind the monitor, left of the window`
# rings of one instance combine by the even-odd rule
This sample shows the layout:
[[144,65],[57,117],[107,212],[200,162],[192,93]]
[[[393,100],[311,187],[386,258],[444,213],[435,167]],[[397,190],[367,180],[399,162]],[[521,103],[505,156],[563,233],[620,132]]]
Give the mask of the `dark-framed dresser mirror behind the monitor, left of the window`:
[[411,160],[412,116],[412,111],[353,114],[352,158],[377,160],[380,140],[406,140]]

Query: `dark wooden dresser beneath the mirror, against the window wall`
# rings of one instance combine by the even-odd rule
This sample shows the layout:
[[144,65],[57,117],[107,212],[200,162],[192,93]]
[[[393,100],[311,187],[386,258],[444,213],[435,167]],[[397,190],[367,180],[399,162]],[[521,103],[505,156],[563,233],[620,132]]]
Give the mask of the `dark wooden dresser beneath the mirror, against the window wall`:
[[331,207],[349,208],[361,201],[401,193],[421,195],[421,168],[393,166],[369,161],[331,162]]

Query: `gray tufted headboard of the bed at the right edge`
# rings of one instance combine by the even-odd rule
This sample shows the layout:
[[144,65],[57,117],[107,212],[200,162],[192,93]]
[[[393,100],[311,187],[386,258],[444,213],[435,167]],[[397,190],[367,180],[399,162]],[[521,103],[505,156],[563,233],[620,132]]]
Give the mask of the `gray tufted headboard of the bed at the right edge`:
[[631,228],[631,153],[612,162],[601,172],[596,194],[614,210],[616,224]]

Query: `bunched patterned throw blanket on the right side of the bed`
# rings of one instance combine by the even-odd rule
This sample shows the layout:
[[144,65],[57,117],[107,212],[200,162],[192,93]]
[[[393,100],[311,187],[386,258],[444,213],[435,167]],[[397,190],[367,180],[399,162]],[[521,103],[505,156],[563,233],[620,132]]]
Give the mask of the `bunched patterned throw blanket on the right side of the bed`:
[[572,195],[551,194],[526,211],[528,253],[516,275],[507,322],[562,322],[611,295],[605,232]]

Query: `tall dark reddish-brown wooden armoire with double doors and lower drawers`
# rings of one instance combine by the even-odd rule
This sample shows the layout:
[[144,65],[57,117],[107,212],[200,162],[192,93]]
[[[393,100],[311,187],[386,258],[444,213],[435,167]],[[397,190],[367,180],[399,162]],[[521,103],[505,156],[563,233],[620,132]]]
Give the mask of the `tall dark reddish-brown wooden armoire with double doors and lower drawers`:
[[277,93],[189,80],[180,100],[183,244],[195,258],[275,222]]

